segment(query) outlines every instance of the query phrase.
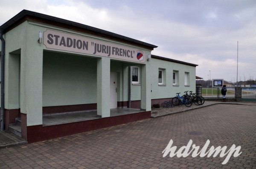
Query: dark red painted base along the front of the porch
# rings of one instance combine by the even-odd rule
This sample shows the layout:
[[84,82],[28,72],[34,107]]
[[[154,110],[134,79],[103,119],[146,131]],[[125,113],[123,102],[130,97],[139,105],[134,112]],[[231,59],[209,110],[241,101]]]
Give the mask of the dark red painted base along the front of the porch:
[[105,127],[116,126],[124,123],[131,123],[137,120],[150,118],[150,116],[151,112],[149,111],[55,126],[27,126],[26,140],[29,143],[34,143],[81,132],[102,129]]

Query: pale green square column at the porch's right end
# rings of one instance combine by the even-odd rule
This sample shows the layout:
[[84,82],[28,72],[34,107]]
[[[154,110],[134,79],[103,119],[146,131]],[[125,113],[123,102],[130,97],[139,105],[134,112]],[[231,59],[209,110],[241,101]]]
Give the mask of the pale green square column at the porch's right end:
[[150,63],[141,65],[141,105],[140,109],[151,111]]

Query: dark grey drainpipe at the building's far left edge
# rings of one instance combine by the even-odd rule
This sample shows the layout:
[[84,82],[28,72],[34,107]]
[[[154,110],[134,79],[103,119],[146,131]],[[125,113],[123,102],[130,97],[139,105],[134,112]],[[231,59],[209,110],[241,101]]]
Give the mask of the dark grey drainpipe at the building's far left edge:
[[1,49],[1,131],[4,130],[4,53],[5,41],[3,39],[3,31],[0,30],[0,39],[2,41]]

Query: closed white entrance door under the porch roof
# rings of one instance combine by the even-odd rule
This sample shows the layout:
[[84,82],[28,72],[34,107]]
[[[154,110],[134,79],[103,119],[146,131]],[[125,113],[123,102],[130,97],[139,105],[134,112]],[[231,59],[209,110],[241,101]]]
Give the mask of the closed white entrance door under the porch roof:
[[110,109],[117,108],[117,73],[110,72]]

